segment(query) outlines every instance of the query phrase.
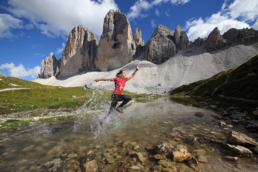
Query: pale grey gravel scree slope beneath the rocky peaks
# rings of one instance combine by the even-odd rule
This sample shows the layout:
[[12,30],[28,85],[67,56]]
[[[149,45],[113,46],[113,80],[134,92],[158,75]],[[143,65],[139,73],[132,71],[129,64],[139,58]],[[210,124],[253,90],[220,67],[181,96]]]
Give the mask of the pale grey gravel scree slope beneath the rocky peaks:
[[[258,54],[258,43],[253,45],[232,45],[225,50],[206,52],[204,47],[191,47],[176,54],[161,65],[155,65],[139,57],[122,68],[109,72],[80,73],[69,78],[36,79],[44,85],[52,86],[84,86],[114,89],[114,83],[108,81],[95,82],[98,78],[114,78],[120,70],[130,76],[140,64],[134,78],[126,83],[124,90],[135,93],[166,94],[172,88],[210,78],[220,71],[232,69]],[[159,86],[161,85],[161,86]]]

